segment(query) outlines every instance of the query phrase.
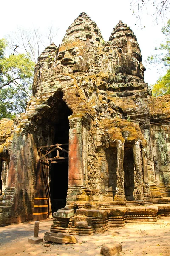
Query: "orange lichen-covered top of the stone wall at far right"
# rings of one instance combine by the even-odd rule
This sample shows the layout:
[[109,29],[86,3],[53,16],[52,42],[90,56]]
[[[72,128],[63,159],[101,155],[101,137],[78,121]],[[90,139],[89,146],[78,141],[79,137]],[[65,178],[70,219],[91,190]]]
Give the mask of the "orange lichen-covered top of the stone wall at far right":
[[148,106],[151,116],[164,115],[166,118],[170,118],[170,95],[150,97]]

